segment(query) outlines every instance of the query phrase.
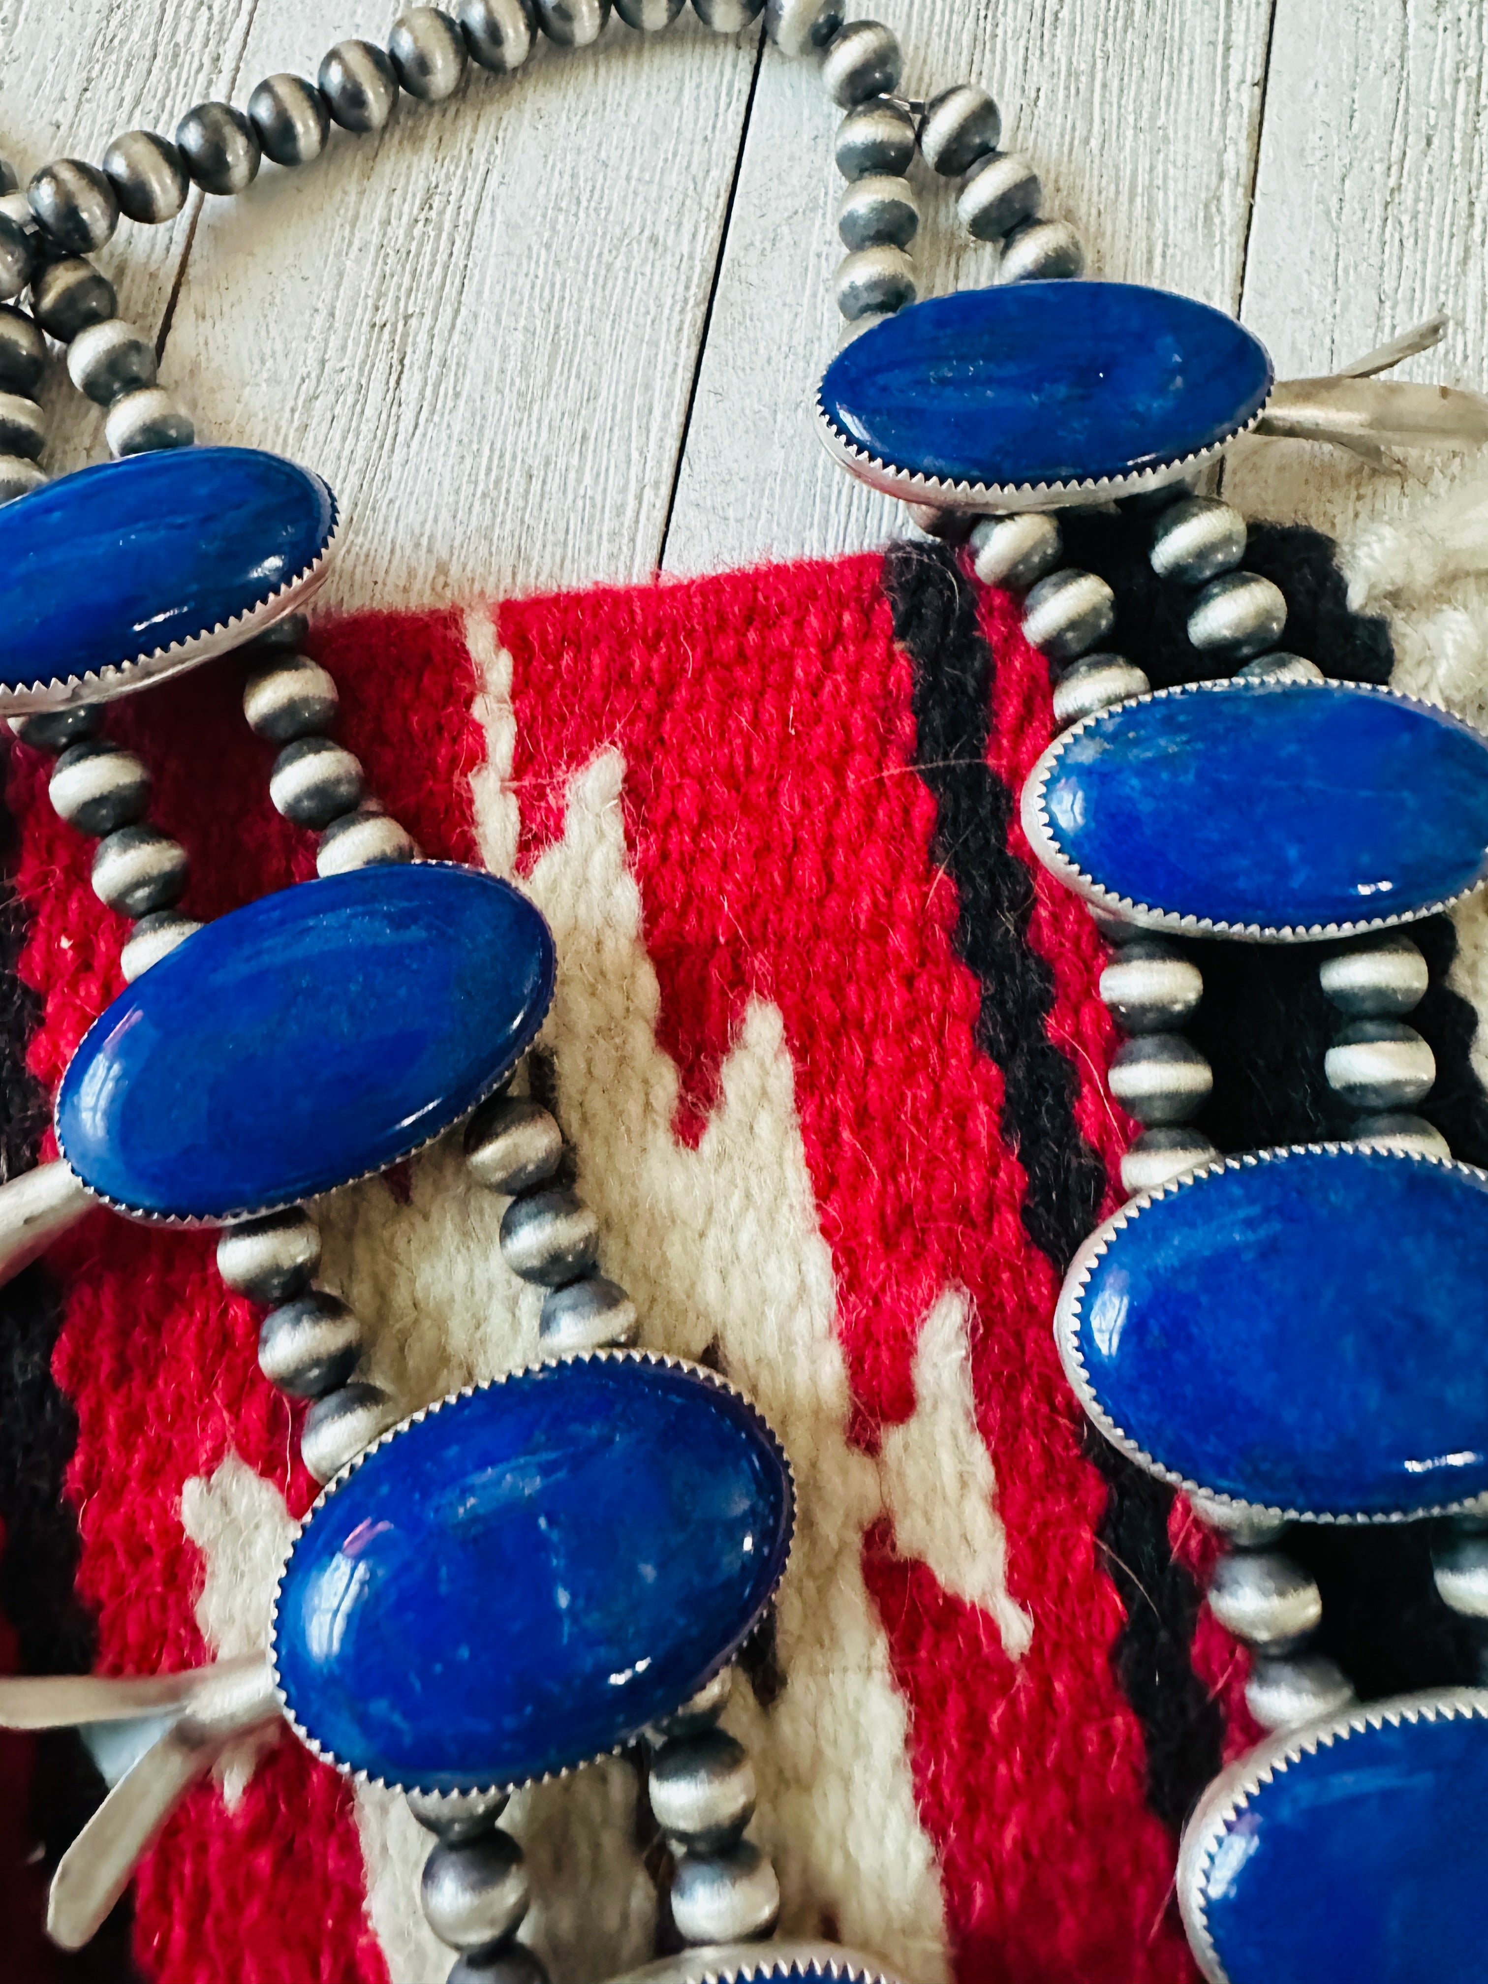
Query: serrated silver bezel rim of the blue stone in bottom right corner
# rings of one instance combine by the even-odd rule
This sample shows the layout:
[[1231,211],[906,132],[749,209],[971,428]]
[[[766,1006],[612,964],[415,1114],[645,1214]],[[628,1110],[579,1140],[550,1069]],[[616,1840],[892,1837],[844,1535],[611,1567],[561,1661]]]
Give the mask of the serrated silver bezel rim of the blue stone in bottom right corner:
[[1198,1968],[1208,1984],[1230,1984],[1220,1952],[1208,1930],[1208,1877],[1230,1823],[1268,1784],[1286,1776],[1303,1756],[1369,1736],[1387,1722],[1452,1722],[1458,1716],[1488,1720],[1488,1688],[1432,1688],[1397,1694],[1383,1702],[1355,1702],[1337,1714],[1286,1730],[1258,1744],[1210,1784],[1194,1807],[1178,1849],[1178,1907]]

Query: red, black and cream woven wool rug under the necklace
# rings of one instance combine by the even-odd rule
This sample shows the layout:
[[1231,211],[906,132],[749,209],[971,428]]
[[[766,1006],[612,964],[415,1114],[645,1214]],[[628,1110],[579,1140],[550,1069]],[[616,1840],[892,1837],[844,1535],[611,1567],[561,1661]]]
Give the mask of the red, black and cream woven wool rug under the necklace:
[[[1204,673],[1139,526],[1073,520],[1155,686]],[[1288,645],[1484,722],[1488,500],[1349,548],[1256,526]],[[1016,794],[1052,736],[1014,603],[952,552],[377,615],[315,629],[339,734],[436,857],[510,875],[558,940],[526,1081],[556,1109],[605,1272],[643,1341],[750,1391],[800,1486],[796,1555],[728,1724],[782,1932],[913,1984],[1177,1984],[1177,1831],[1256,1738],[1246,1659],[1202,1607],[1182,1498],[1093,1438],[1052,1339],[1059,1276],[1109,1210],[1133,1125],[1109,1099],[1101,944],[1036,867]],[[232,663],[129,698],[190,851],[186,909],[313,873],[268,802]],[[91,843],[10,762],[6,1175],[50,1151],[50,1093],[121,988]],[[1419,929],[1438,1061],[1426,1105],[1488,1163],[1474,1000],[1480,903]],[[1343,1129],[1315,952],[1206,946],[1190,1028],[1224,1149]],[[538,1292],[502,1264],[504,1200],[444,1139],[317,1208],[325,1282],[409,1409],[536,1355]],[[313,1498],[298,1411],[206,1234],[93,1214],[0,1296],[0,1601],[12,1667],[151,1673],[262,1645]],[[1313,1532],[1323,1643],[1361,1694],[1474,1678],[1417,1530]],[[500,1649],[492,1649],[500,1657]],[[284,1736],[169,1823],[91,1950],[42,1946],[40,1889],[101,1796],[73,1736],[0,1750],[8,1976],[436,1984],[429,1837]],[[6,1794],[6,1788],[10,1796]],[[522,1794],[524,1936],[559,1984],[673,1946],[639,1760]],[[26,1859],[28,1841],[38,1851]]]

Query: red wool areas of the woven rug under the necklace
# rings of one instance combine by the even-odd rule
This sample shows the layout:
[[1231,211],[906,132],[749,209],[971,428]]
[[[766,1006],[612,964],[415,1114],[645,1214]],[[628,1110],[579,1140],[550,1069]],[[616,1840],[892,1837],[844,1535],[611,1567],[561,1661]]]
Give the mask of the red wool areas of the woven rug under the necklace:
[[[998,657],[988,762],[1016,790],[1052,730],[1048,679],[1006,601],[984,601],[984,627]],[[567,778],[623,754],[659,1040],[682,1075],[679,1137],[706,1123],[746,1000],[780,1008],[863,1446],[915,1407],[927,1309],[946,1286],[972,1298],[976,1415],[1030,1651],[1008,1659],[976,1607],[899,1555],[887,1520],[865,1540],[958,1976],[1190,1978],[1169,1907],[1175,1843],[1145,1803],[1141,1724],[1109,1665],[1123,1609],[1095,1546],[1105,1488],[1054,1351],[1057,1276],[1024,1230],[1004,1073],[976,1044],[980,990],[952,946],[956,895],[932,857],[881,559],[536,599],[502,607],[498,629],[514,657],[520,865],[561,831]],[[468,776],[484,734],[458,617],[361,617],[313,645],[371,788],[427,853],[476,859]],[[192,855],[194,915],[313,871],[310,837],[268,804],[268,750],[242,724],[230,665],[123,702],[109,732],[155,768],[151,817]],[[56,821],[44,778],[40,758],[14,754],[22,972],[44,998],[32,1065],[56,1083],[121,988],[123,925],[91,895],[91,847]],[[1010,845],[1028,859],[1016,827]],[[1054,972],[1048,1030],[1079,1073],[1079,1127],[1111,1165],[1127,1125],[1101,1087],[1099,946],[1042,871],[1030,942]],[[210,1254],[210,1236],[95,1214],[52,1256],[65,1284],[56,1375],[79,1421],[79,1577],[115,1673],[204,1657],[188,1476],[232,1446],[292,1512],[313,1490],[298,1413],[258,1373],[256,1313]],[[1228,1643],[1206,1631],[1206,1673],[1232,1696]],[[159,1984],[381,1984],[363,1891],[343,1782],[286,1738],[236,1811],[204,1788],[169,1823],[137,1883],[141,1970]]]

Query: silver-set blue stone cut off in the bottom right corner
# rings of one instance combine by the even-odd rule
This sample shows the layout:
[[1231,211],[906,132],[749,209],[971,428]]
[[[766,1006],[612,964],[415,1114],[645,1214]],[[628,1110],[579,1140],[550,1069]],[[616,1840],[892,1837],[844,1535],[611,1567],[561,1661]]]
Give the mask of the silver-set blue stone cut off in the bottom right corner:
[[1478,1984],[1488,1692],[1274,1736],[1188,1821],[1178,1897],[1210,1984]]

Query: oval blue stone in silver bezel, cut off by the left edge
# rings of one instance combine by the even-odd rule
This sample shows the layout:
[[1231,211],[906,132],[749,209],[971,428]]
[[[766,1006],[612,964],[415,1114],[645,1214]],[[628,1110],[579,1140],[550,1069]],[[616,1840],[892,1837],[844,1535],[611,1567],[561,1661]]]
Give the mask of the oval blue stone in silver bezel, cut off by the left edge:
[[165,448],[0,510],[0,712],[97,702],[292,611],[335,500],[258,448]]

